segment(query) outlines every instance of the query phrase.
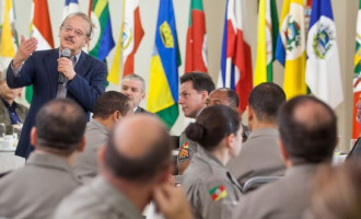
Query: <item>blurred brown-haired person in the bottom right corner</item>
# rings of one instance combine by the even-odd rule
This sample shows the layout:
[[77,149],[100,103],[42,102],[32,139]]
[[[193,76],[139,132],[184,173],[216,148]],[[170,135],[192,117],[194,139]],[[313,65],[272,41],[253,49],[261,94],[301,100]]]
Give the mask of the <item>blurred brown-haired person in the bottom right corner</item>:
[[313,185],[311,211],[304,219],[360,219],[361,163],[322,166]]

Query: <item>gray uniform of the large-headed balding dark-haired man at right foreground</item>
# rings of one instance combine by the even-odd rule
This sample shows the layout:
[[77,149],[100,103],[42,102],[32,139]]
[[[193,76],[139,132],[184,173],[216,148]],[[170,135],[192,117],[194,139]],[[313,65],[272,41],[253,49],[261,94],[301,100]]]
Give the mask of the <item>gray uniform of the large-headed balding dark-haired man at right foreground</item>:
[[234,219],[301,219],[310,205],[312,178],[317,165],[290,168],[286,176],[245,195]]

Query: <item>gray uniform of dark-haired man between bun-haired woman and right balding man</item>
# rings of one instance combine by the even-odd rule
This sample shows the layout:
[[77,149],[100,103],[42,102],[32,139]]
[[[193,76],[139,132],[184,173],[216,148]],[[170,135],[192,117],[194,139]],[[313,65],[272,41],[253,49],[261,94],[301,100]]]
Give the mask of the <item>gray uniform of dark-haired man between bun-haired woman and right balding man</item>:
[[278,136],[275,128],[252,131],[248,140],[243,143],[240,155],[226,164],[241,185],[255,176],[283,175],[286,166],[277,143]]

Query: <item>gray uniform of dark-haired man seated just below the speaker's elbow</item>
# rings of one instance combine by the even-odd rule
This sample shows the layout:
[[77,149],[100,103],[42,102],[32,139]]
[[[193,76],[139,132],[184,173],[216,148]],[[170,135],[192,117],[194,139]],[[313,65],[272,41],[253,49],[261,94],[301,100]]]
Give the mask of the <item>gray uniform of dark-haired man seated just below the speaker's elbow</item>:
[[105,145],[109,131],[97,120],[86,124],[85,149],[80,153],[74,163],[74,173],[82,182],[89,182],[97,175],[97,149]]

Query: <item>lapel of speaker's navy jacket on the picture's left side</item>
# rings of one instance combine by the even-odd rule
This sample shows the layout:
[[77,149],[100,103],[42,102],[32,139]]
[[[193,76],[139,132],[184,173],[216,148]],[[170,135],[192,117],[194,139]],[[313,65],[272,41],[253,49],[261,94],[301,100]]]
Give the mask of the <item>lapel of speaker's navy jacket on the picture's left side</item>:
[[48,58],[45,58],[44,60],[47,69],[47,76],[50,81],[51,96],[56,96],[58,91],[58,58],[59,49],[51,49],[50,53],[48,53]]

